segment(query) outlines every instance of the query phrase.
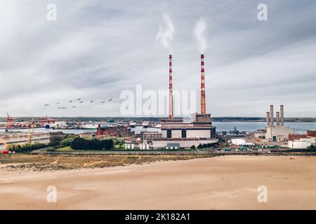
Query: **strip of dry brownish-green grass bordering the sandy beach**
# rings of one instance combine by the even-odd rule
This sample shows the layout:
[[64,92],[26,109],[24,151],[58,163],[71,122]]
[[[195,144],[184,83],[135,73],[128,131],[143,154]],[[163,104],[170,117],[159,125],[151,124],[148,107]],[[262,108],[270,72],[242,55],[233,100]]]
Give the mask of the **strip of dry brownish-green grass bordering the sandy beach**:
[[0,172],[6,171],[44,171],[59,169],[103,168],[131,164],[146,164],[150,162],[167,160],[190,160],[194,158],[208,158],[212,154],[77,154],[77,155],[51,155],[51,154],[15,154],[0,155]]

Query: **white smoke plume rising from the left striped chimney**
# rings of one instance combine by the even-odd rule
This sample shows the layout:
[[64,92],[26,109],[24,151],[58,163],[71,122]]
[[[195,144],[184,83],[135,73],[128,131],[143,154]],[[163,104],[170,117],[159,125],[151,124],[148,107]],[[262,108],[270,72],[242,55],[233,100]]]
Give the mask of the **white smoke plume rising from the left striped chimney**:
[[171,41],[173,39],[174,34],[174,26],[168,15],[163,15],[165,27],[159,25],[159,32],[157,34],[157,40],[162,42],[164,47],[168,48],[170,53],[172,53]]

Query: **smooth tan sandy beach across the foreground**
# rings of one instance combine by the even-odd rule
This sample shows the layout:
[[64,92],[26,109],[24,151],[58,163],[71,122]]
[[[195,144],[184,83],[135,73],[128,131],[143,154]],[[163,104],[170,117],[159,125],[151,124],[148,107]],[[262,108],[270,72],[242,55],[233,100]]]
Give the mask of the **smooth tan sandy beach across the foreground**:
[[[57,202],[47,202],[55,186]],[[268,202],[257,200],[259,186]],[[0,209],[316,209],[316,157],[233,155],[124,167],[11,171]]]

